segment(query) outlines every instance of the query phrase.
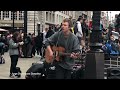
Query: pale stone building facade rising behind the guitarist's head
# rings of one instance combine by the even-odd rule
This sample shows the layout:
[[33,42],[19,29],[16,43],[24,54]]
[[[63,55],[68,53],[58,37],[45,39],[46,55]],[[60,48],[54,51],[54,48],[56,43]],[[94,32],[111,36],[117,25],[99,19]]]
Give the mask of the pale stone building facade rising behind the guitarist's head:
[[[64,18],[76,19],[76,11],[28,11],[28,33],[37,35],[49,26],[61,24]],[[34,29],[35,28],[35,29]]]

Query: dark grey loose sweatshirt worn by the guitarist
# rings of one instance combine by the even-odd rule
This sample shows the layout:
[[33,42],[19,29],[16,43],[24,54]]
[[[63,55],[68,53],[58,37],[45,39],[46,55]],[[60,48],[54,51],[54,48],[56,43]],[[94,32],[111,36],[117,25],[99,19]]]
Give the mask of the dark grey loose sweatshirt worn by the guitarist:
[[[46,40],[45,45],[47,47],[48,45],[56,45],[56,43],[58,43],[58,46],[64,47],[66,53],[80,51],[79,40],[72,33],[70,33],[68,37],[65,37],[62,31],[56,32]],[[69,56],[66,56],[64,60],[61,60],[59,62],[59,65],[64,69],[72,69],[72,66],[74,65],[74,59],[70,58]]]

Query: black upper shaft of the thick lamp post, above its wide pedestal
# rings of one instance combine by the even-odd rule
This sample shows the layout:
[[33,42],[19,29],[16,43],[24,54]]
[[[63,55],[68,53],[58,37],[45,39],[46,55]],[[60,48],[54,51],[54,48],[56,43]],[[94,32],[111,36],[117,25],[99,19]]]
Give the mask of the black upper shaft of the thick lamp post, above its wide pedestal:
[[90,46],[91,51],[93,52],[101,52],[101,46],[102,46],[102,34],[100,30],[100,18],[101,18],[101,12],[100,11],[93,11],[93,30],[90,35]]

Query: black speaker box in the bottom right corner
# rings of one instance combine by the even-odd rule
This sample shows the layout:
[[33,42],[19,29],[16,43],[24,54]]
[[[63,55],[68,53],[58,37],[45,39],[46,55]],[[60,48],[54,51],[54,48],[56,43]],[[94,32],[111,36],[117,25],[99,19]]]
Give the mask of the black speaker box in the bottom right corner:
[[120,79],[120,67],[108,68],[107,79]]

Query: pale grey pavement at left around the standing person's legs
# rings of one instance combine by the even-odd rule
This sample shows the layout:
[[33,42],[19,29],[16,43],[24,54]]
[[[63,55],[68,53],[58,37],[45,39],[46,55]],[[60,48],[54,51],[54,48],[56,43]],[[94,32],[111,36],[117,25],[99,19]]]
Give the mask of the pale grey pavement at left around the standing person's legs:
[[[5,58],[5,64],[0,64],[0,79],[13,79],[9,77],[11,64],[9,53],[5,53],[3,57]],[[32,63],[38,62],[39,60],[40,56],[38,55],[33,58],[19,58],[17,66],[21,68],[22,74],[21,78],[17,79],[25,79],[25,74],[28,68],[32,65]]]

